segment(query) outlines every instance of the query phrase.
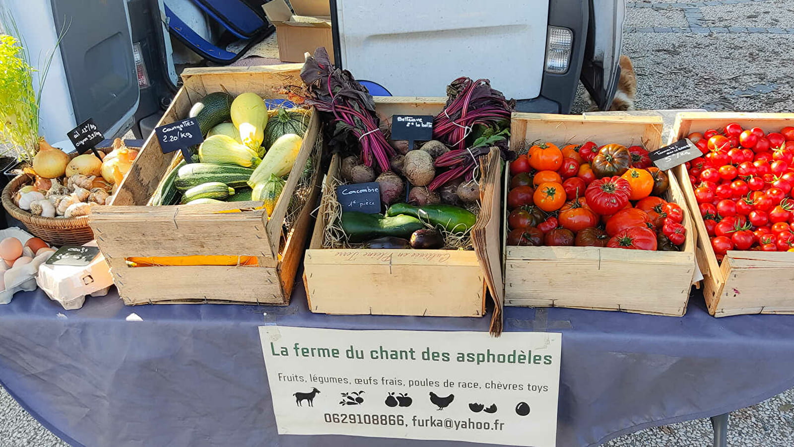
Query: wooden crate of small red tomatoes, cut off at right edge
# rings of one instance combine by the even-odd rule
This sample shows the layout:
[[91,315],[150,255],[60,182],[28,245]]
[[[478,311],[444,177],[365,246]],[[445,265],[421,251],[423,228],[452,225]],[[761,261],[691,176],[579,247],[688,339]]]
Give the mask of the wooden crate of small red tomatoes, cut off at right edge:
[[[765,132],[777,132],[785,126],[794,126],[794,114],[680,113],[670,141],[685,138],[692,132],[722,130],[730,122],[738,122],[745,129],[761,127]],[[794,253],[728,251],[723,261],[718,262],[684,165],[676,168],[676,175],[684,189],[698,231],[696,255],[703,272],[703,297],[708,312],[715,317],[745,313],[794,313]]]

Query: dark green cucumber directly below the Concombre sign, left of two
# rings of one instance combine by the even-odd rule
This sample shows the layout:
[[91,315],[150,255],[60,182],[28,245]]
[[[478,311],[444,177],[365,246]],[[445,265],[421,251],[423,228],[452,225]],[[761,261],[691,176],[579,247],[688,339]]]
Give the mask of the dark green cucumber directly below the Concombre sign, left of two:
[[425,225],[413,216],[384,217],[365,212],[342,212],[342,230],[352,243],[364,242],[383,236],[408,239],[410,234]]

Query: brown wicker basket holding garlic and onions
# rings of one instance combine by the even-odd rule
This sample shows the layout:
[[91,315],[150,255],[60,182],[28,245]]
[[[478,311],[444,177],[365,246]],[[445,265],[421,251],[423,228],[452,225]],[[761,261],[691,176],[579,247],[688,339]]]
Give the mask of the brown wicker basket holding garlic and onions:
[[2,190],[2,206],[14,219],[25,223],[31,233],[51,245],[83,245],[94,239],[94,232],[88,226],[88,216],[68,219],[34,216],[13,204],[13,195],[21,187],[32,184],[32,175],[20,174]]

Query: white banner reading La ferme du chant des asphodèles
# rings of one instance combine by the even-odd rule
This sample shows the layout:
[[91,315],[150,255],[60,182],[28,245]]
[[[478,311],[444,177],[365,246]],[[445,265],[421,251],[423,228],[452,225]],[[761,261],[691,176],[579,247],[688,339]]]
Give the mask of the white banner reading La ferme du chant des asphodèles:
[[554,447],[562,334],[260,327],[279,434]]

